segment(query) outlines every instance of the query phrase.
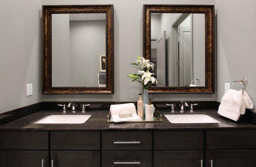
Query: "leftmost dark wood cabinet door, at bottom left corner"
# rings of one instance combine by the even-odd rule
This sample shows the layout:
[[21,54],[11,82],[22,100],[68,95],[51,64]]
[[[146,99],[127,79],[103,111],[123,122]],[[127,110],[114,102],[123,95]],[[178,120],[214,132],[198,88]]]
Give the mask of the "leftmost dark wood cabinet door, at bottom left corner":
[[0,151],[0,167],[48,167],[48,151]]

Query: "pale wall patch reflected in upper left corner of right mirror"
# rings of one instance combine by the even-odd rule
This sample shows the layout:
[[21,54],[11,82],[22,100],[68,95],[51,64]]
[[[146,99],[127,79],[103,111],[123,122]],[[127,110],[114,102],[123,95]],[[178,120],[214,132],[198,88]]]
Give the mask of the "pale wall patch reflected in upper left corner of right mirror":
[[151,38],[161,35],[161,14],[151,14]]

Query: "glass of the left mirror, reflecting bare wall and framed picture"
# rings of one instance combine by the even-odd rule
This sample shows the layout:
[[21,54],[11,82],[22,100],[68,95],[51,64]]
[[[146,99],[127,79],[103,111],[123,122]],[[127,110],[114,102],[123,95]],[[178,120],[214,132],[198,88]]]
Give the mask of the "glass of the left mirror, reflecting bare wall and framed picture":
[[52,14],[52,87],[106,87],[106,14]]

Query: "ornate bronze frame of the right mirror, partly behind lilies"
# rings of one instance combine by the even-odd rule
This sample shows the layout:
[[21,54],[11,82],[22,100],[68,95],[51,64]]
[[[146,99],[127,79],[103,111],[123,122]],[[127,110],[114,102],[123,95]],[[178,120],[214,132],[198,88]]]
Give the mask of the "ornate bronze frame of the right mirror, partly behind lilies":
[[215,93],[215,32],[213,5],[144,5],[143,55],[151,60],[151,14],[205,14],[205,84],[204,86],[155,86],[149,93]]

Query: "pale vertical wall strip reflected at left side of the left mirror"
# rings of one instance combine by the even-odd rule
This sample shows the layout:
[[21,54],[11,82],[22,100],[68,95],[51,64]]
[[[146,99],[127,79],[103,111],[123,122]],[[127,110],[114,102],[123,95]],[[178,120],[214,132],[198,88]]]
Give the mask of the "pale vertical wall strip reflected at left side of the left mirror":
[[52,86],[69,86],[69,14],[52,14]]

